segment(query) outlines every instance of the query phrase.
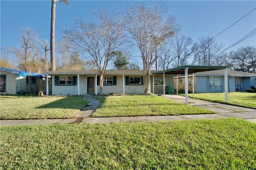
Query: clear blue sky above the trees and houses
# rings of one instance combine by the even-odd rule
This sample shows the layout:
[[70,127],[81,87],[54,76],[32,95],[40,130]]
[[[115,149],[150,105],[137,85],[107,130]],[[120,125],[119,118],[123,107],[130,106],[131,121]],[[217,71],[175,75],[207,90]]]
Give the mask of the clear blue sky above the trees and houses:
[[[61,30],[74,23],[74,20],[87,20],[93,18],[92,11],[106,10],[108,12],[124,13],[128,5],[134,5],[142,1],[125,0],[69,0],[70,4],[56,4],[55,40],[61,39]],[[194,42],[202,36],[216,36],[234,22],[256,8],[255,0],[223,1],[223,0],[169,0],[158,1],[168,8],[168,15],[176,17],[180,24],[180,35],[191,37]],[[152,1],[143,1],[147,6]],[[0,45],[11,48],[20,46],[19,29],[29,27],[34,30],[40,40],[50,42],[50,0],[0,0]],[[236,43],[238,40],[256,29],[256,10],[242,18],[236,24],[228,28],[216,38],[217,43],[224,45],[223,49]],[[256,35],[238,43],[230,50],[239,47],[256,45]],[[138,49],[134,47],[131,55],[138,55]],[[56,54],[58,55],[58,54]],[[58,56],[57,56],[58,57]],[[135,59],[135,60],[139,60]]]

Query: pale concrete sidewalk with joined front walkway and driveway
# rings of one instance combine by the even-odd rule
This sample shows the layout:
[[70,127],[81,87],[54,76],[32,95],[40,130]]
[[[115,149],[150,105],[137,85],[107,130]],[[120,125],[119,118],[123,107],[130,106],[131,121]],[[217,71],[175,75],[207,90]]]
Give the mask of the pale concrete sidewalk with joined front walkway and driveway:
[[[188,99],[188,105],[193,105],[203,109],[208,109],[217,114],[200,114],[200,115],[178,115],[177,116],[141,116],[141,117],[97,117],[91,118],[100,101],[92,98],[90,95],[84,95],[84,99],[89,103],[73,119],[38,119],[38,120],[1,120],[0,126],[15,125],[50,125],[50,124],[73,124],[73,123],[110,123],[110,122],[131,122],[131,121],[176,121],[192,119],[220,119],[236,117],[246,119],[256,123],[256,109],[213,103],[199,99]],[[178,95],[165,95],[166,99],[185,103],[185,97]]]

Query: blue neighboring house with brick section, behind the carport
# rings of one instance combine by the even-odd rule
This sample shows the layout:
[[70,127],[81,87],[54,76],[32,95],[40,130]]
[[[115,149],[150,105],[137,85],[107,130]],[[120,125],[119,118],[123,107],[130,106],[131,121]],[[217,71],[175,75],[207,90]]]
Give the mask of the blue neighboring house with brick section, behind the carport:
[[[228,91],[242,91],[255,85],[256,73],[228,70]],[[174,89],[177,87],[174,77]],[[178,91],[184,91],[185,76],[178,76]],[[188,75],[188,91],[193,92],[193,75]],[[224,70],[203,71],[194,74],[194,93],[224,92]]]

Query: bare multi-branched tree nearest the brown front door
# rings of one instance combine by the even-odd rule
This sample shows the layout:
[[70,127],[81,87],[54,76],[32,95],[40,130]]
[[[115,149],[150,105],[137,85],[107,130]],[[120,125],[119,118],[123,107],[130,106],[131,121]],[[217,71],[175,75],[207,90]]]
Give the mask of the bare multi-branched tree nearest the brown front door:
[[103,11],[95,14],[98,22],[76,21],[74,26],[66,30],[64,34],[74,49],[90,54],[95,62],[100,75],[100,92],[102,94],[103,80],[113,51],[123,45],[123,24],[116,18]]

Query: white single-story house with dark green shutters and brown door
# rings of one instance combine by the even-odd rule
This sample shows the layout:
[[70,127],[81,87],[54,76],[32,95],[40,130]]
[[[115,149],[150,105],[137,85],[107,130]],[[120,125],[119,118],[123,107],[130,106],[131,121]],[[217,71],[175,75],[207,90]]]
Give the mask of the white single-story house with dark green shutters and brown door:
[[[163,94],[163,75],[154,75],[151,71],[150,88],[154,93]],[[45,73],[52,75],[52,95],[98,94],[100,77],[98,70],[56,70]],[[166,86],[173,86],[173,75],[165,76]],[[153,84],[154,82],[154,84]],[[167,88],[165,86],[165,93]],[[50,86],[48,87],[50,89]],[[103,82],[103,94],[140,94],[144,93],[142,70],[106,70]]]

